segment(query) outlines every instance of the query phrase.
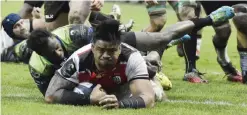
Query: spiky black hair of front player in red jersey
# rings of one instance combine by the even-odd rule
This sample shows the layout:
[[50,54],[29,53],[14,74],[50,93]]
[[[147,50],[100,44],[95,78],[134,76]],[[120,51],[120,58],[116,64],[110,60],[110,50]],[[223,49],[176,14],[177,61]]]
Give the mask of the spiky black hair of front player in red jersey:
[[93,43],[97,40],[103,40],[120,44],[120,23],[117,20],[107,19],[102,21],[95,29]]

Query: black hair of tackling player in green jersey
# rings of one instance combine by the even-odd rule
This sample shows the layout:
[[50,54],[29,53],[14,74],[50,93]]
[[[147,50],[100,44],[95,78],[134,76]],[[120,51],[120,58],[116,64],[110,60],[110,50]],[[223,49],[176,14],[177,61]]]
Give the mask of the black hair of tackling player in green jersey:
[[47,30],[34,30],[27,39],[27,46],[40,55],[43,48],[47,47],[49,41],[48,39],[51,36],[52,34]]

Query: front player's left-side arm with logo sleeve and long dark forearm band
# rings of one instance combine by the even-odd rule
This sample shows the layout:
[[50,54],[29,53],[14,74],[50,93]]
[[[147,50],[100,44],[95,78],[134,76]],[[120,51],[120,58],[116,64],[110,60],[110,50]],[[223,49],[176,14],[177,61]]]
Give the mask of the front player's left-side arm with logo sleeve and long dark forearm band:
[[90,104],[89,94],[75,93],[73,90],[78,85],[76,60],[71,56],[63,66],[55,72],[45,94],[47,103],[60,103],[72,105]]

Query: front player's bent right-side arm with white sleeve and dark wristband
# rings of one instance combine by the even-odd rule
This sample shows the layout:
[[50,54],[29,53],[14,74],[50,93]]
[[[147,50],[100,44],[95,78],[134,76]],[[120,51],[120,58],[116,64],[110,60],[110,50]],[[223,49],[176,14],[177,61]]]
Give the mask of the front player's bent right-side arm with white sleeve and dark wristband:
[[155,93],[149,81],[146,62],[140,53],[131,54],[126,67],[126,75],[130,82],[132,96],[119,100],[119,108],[153,107]]

